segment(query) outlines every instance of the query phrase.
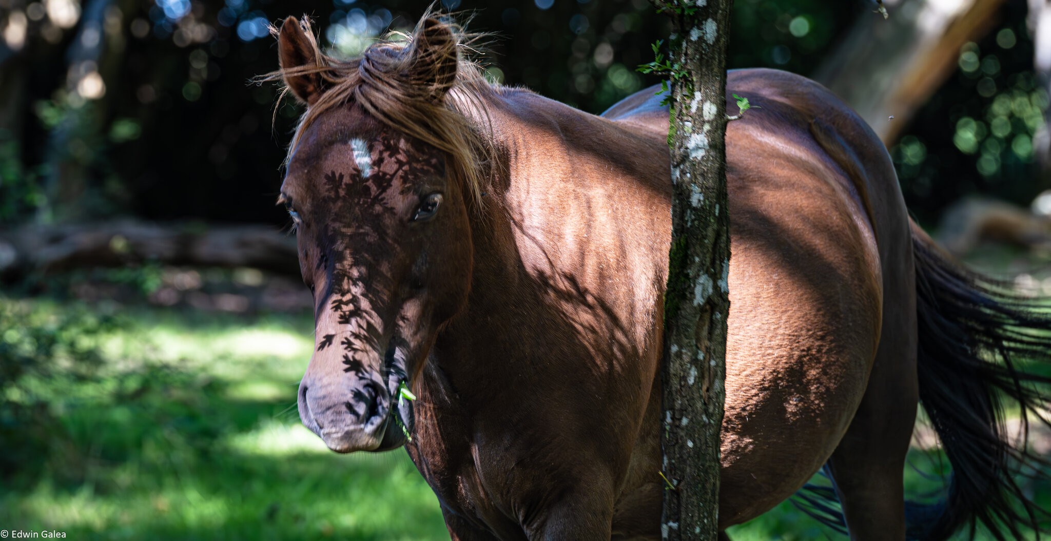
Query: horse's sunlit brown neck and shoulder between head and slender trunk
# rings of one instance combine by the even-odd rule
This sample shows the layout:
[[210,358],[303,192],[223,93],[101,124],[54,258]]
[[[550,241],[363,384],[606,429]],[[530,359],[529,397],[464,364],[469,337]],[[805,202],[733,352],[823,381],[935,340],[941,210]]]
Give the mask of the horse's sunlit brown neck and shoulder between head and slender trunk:
[[662,142],[531,93],[489,118],[507,162],[473,222],[471,297],[438,363],[479,397],[648,348],[667,253]]

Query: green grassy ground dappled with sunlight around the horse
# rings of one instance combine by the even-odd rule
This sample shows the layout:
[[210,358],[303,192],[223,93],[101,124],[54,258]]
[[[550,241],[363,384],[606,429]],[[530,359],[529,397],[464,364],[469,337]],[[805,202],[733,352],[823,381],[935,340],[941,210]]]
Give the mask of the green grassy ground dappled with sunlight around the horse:
[[[15,304],[41,321],[78,311],[70,301]],[[16,432],[43,448],[0,445],[32,453],[0,477],[0,528],[57,529],[69,539],[448,539],[434,495],[404,452],[336,455],[300,424],[309,313],[106,304],[89,311],[119,320],[66,337],[90,340],[81,346],[101,352],[98,367],[58,362],[0,396],[40,401],[49,415]],[[0,344],[16,339],[22,322],[0,328]],[[913,459],[929,471],[921,452]],[[915,471],[905,475],[914,492],[937,486]],[[1048,487],[1032,488],[1051,505]],[[841,539],[788,502],[733,537]]]

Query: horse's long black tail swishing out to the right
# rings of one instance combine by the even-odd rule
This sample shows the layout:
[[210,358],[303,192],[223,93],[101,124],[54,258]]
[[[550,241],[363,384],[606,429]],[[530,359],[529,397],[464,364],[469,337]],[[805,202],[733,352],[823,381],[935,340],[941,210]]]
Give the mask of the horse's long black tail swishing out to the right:
[[[912,247],[920,402],[952,475],[937,503],[906,502],[907,538],[944,540],[962,528],[973,537],[981,525],[1001,541],[1039,539],[1051,514],[1018,479],[1049,480],[1051,464],[1026,443],[1031,419],[1051,425],[1051,377],[1032,372],[1051,367],[1051,303],[960,267],[915,224]],[[1016,407],[1021,436],[1008,431],[1005,405]],[[844,532],[834,498],[832,486],[807,485],[795,501]]]

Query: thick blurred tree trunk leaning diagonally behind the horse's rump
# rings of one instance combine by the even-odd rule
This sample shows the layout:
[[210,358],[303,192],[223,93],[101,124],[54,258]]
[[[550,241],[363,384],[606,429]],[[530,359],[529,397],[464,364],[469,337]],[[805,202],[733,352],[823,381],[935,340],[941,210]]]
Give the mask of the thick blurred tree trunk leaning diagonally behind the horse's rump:
[[995,26],[1004,0],[887,3],[889,20],[861,17],[813,79],[850,104],[889,146],[955,69],[960,47]]

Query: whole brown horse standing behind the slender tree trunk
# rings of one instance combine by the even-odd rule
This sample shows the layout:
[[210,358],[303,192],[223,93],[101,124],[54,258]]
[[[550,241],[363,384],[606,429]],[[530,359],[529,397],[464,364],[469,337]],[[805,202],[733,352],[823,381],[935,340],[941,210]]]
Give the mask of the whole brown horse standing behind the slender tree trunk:
[[[406,445],[453,539],[659,538],[671,180],[654,90],[595,117],[491,85],[434,18],[349,62],[294,18],[279,43],[275,77],[307,104],[282,187],[316,303],[303,422],[339,453]],[[720,526],[827,465],[834,494],[817,496],[854,539],[1038,527],[1010,475],[1037,458],[1009,443],[1001,401],[1045,407],[1012,362],[1047,356],[1049,319],[940,254],[828,90],[765,69],[728,88],[762,109],[726,133]],[[936,505],[902,487],[920,402],[954,470]]]

